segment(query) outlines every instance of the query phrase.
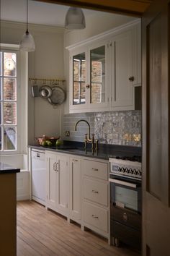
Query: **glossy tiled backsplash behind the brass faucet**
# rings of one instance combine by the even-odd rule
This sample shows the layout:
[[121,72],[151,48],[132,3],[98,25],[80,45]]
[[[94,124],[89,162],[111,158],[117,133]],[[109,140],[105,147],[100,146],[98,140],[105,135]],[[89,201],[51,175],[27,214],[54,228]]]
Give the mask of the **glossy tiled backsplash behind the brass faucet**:
[[[112,111],[86,114],[66,114],[63,116],[63,140],[84,141],[89,132],[85,122],[80,122],[75,131],[76,121],[89,121],[91,135],[99,143],[141,146],[141,111]],[[66,132],[70,137],[66,137]]]

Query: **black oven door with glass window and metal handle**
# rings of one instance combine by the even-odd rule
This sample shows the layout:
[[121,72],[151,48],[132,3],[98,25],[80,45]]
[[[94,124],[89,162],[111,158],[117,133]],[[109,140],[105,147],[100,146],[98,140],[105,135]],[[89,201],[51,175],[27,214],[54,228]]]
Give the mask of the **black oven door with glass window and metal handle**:
[[111,205],[141,213],[141,183],[110,174]]

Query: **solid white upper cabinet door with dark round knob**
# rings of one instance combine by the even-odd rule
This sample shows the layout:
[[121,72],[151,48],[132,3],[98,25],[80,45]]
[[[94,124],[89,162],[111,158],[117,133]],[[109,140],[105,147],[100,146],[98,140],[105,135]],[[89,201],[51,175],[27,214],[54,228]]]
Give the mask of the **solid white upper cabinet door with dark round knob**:
[[[132,30],[112,39],[112,106],[133,106]],[[131,81],[130,81],[131,77]]]

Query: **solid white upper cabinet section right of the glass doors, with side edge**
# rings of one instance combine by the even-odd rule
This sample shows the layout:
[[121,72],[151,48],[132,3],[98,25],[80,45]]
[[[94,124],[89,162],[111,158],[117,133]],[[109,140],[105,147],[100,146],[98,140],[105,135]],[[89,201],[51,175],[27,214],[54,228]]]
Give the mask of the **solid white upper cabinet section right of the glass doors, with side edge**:
[[111,108],[135,109],[135,87],[141,85],[140,24],[114,35],[109,43],[111,57]]

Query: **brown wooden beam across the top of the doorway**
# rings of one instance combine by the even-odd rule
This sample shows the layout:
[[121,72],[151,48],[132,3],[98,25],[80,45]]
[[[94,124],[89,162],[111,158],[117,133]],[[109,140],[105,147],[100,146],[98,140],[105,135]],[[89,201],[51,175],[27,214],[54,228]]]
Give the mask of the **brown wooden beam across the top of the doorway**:
[[95,9],[104,12],[126,14],[141,17],[148,9],[151,0],[37,0],[51,4],[63,4],[85,9]]

